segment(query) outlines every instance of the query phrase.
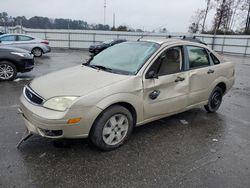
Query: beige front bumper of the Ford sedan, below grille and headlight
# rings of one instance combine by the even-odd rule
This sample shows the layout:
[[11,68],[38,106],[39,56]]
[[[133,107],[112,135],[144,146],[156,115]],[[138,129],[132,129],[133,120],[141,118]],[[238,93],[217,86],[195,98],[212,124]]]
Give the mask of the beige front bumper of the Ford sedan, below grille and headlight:
[[[35,106],[29,103],[22,95],[20,112],[27,129],[33,133],[47,138],[85,138],[88,137],[91,126],[101,112],[97,107],[91,109],[71,109],[70,112],[57,112]],[[80,117],[77,124],[69,125],[70,118]]]

